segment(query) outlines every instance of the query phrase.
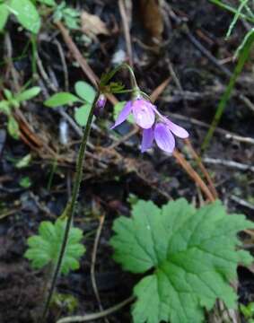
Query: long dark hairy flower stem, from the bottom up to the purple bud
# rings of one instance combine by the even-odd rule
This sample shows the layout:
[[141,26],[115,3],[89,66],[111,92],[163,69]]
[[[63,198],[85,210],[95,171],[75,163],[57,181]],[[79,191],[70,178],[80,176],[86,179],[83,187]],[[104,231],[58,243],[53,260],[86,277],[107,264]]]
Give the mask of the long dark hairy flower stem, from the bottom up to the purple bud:
[[43,314],[42,314],[42,322],[44,322],[45,319],[47,318],[50,301],[52,299],[52,295],[53,295],[53,292],[54,292],[56,284],[57,284],[57,277],[59,275],[60,268],[61,268],[61,265],[62,265],[62,261],[63,261],[63,258],[65,256],[65,251],[66,251],[66,245],[67,245],[67,241],[68,241],[69,231],[70,231],[72,223],[73,223],[76,201],[77,201],[77,198],[78,198],[78,195],[79,195],[79,189],[80,189],[81,181],[82,181],[82,178],[83,178],[83,166],[84,166],[84,157],[85,157],[85,151],[86,151],[86,144],[87,144],[87,141],[88,141],[88,138],[89,138],[89,135],[90,135],[93,112],[94,112],[95,105],[96,105],[96,102],[97,102],[98,98],[99,98],[99,93],[97,93],[97,96],[96,96],[95,100],[93,101],[92,109],[90,111],[90,114],[89,114],[89,117],[88,117],[88,120],[87,120],[87,124],[86,124],[86,127],[85,127],[84,132],[83,132],[82,143],[81,143],[80,148],[79,148],[77,164],[76,164],[76,172],[75,172],[75,176],[74,176],[74,188],[73,188],[70,204],[67,206],[66,230],[65,230],[65,233],[64,233],[64,238],[63,238],[63,242],[62,242],[62,245],[61,245],[59,257],[57,259],[57,266],[56,266],[56,269],[55,269],[55,272],[54,272],[54,275],[53,275],[53,278],[52,278],[52,282],[51,282],[51,285],[50,285],[50,288],[49,288],[49,291],[48,291],[48,298],[47,298],[47,300],[45,302],[45,306],[44,306],[44,310],[43,310]]

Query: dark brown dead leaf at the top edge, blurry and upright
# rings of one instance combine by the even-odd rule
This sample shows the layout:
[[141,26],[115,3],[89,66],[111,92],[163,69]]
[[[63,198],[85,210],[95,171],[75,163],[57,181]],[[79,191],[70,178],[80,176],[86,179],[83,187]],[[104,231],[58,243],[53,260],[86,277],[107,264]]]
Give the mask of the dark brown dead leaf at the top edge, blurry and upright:
[[140,14],[145,29],[149,32],[153,43],[159,43],[162,39],[163,18],[159,0],[139,0]]

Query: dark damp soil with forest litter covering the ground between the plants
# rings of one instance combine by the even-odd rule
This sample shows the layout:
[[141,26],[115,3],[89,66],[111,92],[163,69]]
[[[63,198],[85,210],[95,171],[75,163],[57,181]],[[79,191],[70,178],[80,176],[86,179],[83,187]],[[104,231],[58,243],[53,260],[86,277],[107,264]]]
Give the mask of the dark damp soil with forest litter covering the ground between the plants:
[[[92,70],[100,75],[112,67],[111,59],[119,49],[126,50],[126,41],[122,31],[122,21],[118,12],[118,1],[73,1],[74,6],[90,13],[97,14],[106,22],[111,36],[99,36],[91,45],[81,40],[81,32],[72,32],[72,37],[87,57]],[[136,2],[134,2],[136,3]],[[172,114],[172,118],[188,129],[192,144],[197,151],[206,135],[206,127],[197,126],[188,118],[195,118],[210,124],[229,77],[223,68],[215,65],[200,48],[195,46],[193,39],[197,39],[206,50],[219,62],[233,56],[235,49],[241,43],[246,32],[245,25],[238,22],[237,27],[229,40],[224,36],[232,20],[232,15],[224,12],[206,0],[188,1],[173,0],[170,13],[163,13],[165,22],[162,34],[162,48],[157,54],[150,50],[149,32],[145,31],[142,13],[133,8],[133,22],[131,36],[133,38],[133,58],[138,83],[147,93],[160,85],[169,75],[169,59],[177,74],[182,92],[171,80],[169,86],[157,100],[157,105],[165,114]],[[169,8],[168,8],[169,9]],[[178,19],[180,21],[178,21]],[[188,32],[183,29],[183,23],[188,26]],[[31,45],[28,45],[29,34],[17,31],[17,24],[8,22],[8,32],[13,46],[14,68],[19,74],[18,82],[22,86],[31,79]],[[5,57],[4,36],[0,36],[0,52]],[[70,92],[73,84],[85,79],[81,68],[74,64],[66,45],[53,24],[45,22],[38,39],[39,57],[51,79],[57,79],[57,87],[65,89],[63,65],[59,58],[54,40],[62,44],[64,50],[70,83]],[[140,41],[135,41],[140,39]],[[145,45],[142,45],[145,44]],[[13,88],[13,80],[8,72],[9,65],[4,62],[0,65],[3,77],[1,83],[6,88]],[[232,71],[234,63],[221,64]],[[232,100],[223,114],[220,127],[225,131],[243,137],[254,138],[253,111],[239,99],[244,94],[253,101],[253,59],[245,66],[232,94]],[[1,73],[1,74],[2,74]],[[4,76],[5,75],[5,76]],[[39,78],[41,78],[39,74]],[[127,74],[121,79],[127,81]],[[49,93],[52,93],[48,84],[40,80]],[[35,82],[36,83],[36,82]],[[1,89],[0,89],[1,90]],[[45,94],[45,93],[43,93]],[[74,156],[78,149],[79,137],[73,128],[69,128],[68,145],[60,143],[58,129],[62,117],[57,111],[43,107],[43,94],[22,107],[22,114],[31,124],[40,140],[59,154],[57,169],[54,171],[51,187],[48,189],[48,180],[54,155],[50,155],[45,146],[36,147],[36,144],[27,144],[24,140],[13,140],[6,133],[6,119],[0,115],[0,323],[30,323],[34,321],[35,312],[41,304],[41,293],[45,285],[45,273],[31,270],[29,263],[23,258],[27,248],[26,240],[38,230],[43,220],[54,220],[62,213],[70,195],[71,181],[74,177]],[[0,92],[1,95],[1,92]],[[112,144],[109,138],[111,125],[111,107],[107,104],[105,118],[97,121],[102,133],[92,130],[91,143],[95,145],[92,154],[98,153],[100,162],[87,157],[84,181],[79,198],[78,212],[75,224],[83,230],[84,244],[87,252],[82,259],[78,271],[60,278],[57,292],[72,294],[78,300],[78,308],[74,313],[83,314],[99,310],[92,290],[90,268],[92,247],[99,225],[99,216],[105,215],[105,223],[101,232],[101,240],[97,252],[96,280],[101,303],[104,309],[124,301],[131,293],[136,275],[123,272],[111,258],[112,250],[109,247],[109,238],[114,219],[119,214],[129,214],[127,197],[134,194],[139,198],[152,199],[162,205],[168,198],[185,196],[189,201],[198,202],[196,184],[188,178],[184,170],[172,157],[165,157],[156,148],[153,153],[141,154],[138,150],[139,135],[133,136],[126,143],[119,144],[118,155],[100,150]],[[70,115],[73,108],[66,110]],[[109,113],[108,113],[109,111]],[[183,120],[178,117],[186,117]],[[107,119],[106,119],[107,118]],[[110,122],[109,122],[110,121]],[[130,127],[122,127],[119,131],[127,134]],[[34,147],[35,146],[35,147]],[[178,143],[182,148],[183,144]],[[26,154],[32,154],[32,162],[24,169],[17,169],[14,161]],[[120,156],[120,157],[119,157]],[[187,156],[188,157],[188,156]],[[243,164],[254,162],[254,145],[242,143],[234,139],[227,139],[221,132],[215,136],[206,151],[206,157],[222,159]],[[238,170],[223,165],[206,164],[207,170],[213,174],[220,198],[232,212],[244,213],[254,220],[253,209],[232,199],[238,196],[241,200],[254,205],[253,172]],[[31,179],[30,188],[22,188],[20,180],[26,176]],[[253,243],[253,242],[252,242]],[[248,303],[254,301],[253,275],[249,269],[239,270],[240,301]],[[48,322],[56,320],[66,314],[66,309],[54,308],[51,310]],[[99,319],[102,322],[104,319]],[[109,316],[110,322],[130,322],[129,308]]]

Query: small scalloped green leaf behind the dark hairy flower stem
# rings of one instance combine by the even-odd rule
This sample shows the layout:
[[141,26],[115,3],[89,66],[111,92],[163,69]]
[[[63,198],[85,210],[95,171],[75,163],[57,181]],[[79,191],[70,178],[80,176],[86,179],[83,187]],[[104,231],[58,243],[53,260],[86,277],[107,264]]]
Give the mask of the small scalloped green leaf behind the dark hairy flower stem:
[[[39,269],[50,263],[57,264],[65,228],[66,220],[60,219],[56,223],[44,221],[39,224],[39,235],[34,235],[28,239],[29,248],[24,254],[25,258],[31,260],[33,268]],[[79,268],[79,259],[85,252],[85,248],[80,243],[82,239],[82,231],[77,228],[71,228],[61,266],[62,274],[68,274],[71,269]]]

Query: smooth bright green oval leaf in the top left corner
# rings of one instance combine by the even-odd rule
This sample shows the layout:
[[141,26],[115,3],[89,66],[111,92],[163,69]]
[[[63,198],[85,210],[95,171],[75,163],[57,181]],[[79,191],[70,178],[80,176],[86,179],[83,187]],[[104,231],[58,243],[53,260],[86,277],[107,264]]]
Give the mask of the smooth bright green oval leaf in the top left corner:
[[18,22],[20,22],[26,30],[38,33],[40,27],[39,13],[30,0],[11,0],[9,6]]

